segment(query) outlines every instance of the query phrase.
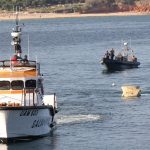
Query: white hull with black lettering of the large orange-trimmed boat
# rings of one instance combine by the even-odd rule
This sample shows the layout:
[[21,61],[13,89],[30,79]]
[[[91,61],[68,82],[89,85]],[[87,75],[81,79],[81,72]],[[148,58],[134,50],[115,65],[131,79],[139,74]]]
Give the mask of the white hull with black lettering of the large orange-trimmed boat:
[[0,107],[0,140],[42,137],[50,133],[54,125],[51,106]]

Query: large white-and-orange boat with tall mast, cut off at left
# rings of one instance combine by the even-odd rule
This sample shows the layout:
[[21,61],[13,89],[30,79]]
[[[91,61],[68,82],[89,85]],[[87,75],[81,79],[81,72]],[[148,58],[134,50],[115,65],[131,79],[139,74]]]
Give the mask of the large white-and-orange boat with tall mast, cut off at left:
[[0,141],[38,138],[55,127],[56,95],[45,95],[40,63],[22,58],[21,27],[16,13],[13,58],[0,61]]

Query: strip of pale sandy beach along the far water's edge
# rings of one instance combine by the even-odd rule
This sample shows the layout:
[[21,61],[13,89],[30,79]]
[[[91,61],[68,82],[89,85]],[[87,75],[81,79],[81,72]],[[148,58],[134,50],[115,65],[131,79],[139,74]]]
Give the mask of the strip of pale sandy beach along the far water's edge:
[[[105,16],[142,16],[150,15],[150,12],[115,12],[115,13],[93,13],[93,14],[79,14],[79,13],[28,13],[20,12],[19,19],[53,19],[53,18],[79,18],[79,17],[105,17]],[[0,21],[15,19],[15,14],[0,13]]]

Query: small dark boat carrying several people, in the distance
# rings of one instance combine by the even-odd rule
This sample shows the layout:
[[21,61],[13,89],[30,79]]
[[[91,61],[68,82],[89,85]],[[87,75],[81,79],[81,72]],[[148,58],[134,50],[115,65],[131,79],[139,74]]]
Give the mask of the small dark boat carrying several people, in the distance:
[[128,47],[128,43],[124,43],[125,48],[122,52],[115,55],[115,50],[112,49],[106,52],[101,60],[101,64],[105,65],[110,71],[138,68],[140,62],[132,49]]

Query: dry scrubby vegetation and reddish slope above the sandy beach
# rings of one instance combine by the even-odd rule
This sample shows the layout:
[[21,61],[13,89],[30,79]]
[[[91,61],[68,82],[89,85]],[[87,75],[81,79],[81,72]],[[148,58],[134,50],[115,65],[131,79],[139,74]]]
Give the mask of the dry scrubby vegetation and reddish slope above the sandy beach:
[[0,0],[1,10],[12,11],[15,6],[41,13],[150,12],[150,0]]

